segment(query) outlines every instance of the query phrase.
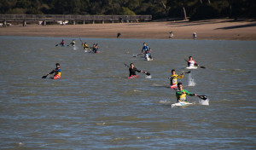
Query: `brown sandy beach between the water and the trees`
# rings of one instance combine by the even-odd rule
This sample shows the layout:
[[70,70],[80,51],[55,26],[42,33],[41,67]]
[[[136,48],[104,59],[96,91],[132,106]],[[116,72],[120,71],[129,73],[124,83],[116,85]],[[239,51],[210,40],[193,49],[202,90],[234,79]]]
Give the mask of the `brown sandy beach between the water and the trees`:
[[[212,40],[256,40],[255,20],[160,21],[139,23],[105,23],[85,25],[27,25],[0,28],[0,36],[66,38],[155,38]],[[173,32],[173,38],[170,37]]]

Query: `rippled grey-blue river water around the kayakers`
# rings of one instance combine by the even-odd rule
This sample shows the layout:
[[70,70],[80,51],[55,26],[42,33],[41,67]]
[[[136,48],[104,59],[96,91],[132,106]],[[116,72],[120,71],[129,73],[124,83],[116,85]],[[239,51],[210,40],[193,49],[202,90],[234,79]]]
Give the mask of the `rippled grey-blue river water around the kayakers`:
[[[101,53],[55,47],[62,38],[0,37],[1,149],[255,149],[256,42],[81,38]],[[64,38],[70,43],[73,38]],[[132,57],[143,42],[154,61]],[[171,70],[189,107],[171,107]],[[43,79],[61,64],[61,79]],[[124,63],[151,73],[128,79]]]

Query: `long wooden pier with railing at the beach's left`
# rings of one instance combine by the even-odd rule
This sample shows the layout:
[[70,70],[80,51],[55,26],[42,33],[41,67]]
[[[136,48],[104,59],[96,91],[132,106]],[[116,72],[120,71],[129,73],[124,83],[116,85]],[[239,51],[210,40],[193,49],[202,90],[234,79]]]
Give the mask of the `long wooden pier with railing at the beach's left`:
[[7,25],[7,21],[23,21],[23,26],[26,26],[27,21],[43,21],[46,25],[48,21],[90,21],[95,23],[99,21],[104,22],[138,22],[152,20],[152,15],[73,15],[73,14],[0,14],[0,21],[3,26]]

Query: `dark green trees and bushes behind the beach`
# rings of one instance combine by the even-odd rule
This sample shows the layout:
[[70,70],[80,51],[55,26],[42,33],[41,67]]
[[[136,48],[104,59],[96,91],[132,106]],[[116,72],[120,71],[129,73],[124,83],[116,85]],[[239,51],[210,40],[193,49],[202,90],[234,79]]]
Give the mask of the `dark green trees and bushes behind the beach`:
[[0,14],[152,14],[153,20],[255,18],[255,0],[0,0]]

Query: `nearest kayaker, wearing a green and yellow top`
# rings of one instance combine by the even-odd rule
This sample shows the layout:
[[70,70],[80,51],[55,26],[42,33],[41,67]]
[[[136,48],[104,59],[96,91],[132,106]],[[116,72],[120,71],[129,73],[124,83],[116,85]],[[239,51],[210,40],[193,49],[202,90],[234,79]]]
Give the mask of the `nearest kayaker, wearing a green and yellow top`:
[[180,102],[180,101],[188,102],[186,99],[186,95],[196,96],[196,94],[189,93],[188,90],[183,89],[182,83],[177,83],[177,90],[176,90],[177,102]]

